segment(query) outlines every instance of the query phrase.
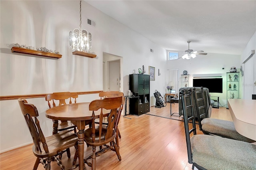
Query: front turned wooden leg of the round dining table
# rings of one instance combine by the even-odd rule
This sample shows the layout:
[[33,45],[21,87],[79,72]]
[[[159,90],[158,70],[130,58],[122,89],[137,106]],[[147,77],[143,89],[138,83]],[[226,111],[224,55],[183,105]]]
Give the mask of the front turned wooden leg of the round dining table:
[[86,170],[84,165],[84,128],[85,121],[76,121],[76,126],[78,128],[78,161],[79,170]]

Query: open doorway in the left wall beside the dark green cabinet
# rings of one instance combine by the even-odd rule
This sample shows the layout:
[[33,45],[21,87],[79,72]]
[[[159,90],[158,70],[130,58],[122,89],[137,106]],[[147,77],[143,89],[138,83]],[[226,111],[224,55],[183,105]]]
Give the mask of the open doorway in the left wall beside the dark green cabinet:
[[103,52],[103,91],[123,91],[122,57]]

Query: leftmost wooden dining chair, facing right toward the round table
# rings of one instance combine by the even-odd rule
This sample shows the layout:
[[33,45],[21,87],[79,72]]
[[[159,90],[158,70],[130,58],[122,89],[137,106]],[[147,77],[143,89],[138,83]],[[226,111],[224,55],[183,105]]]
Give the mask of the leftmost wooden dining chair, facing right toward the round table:
[[[32,150],[37,158],[33,170],[37,170],[40,162],[44,165],[46,170],[50,170],[52,160],[55,160],[60,168],[64,170],[64,165],[56,156],[62,154],[62,150],[66,150],[72,146],[75,146],[77,152],[78,137],[76,134],[71,133],[69,130],[63,130],[52,136],[44,137],[42,129],[40,128],[40,122],[37,119],[39,114],[36,107],[32,104],[28,104],[24,99],[18,99],[18,103],[34,142]],[[74,160],[76,160],[76,157],[77,154],[75,154]],[[78,167],[78,165],[74,165],[70,169],[76,167]]]

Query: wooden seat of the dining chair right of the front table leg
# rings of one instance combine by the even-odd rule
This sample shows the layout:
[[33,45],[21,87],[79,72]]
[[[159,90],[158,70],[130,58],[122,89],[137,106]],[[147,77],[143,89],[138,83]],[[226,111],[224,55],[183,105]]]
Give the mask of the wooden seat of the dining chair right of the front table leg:
[[[102,133],[101,133],[101,137],[99,137],[99,126],[95,127],[95,143],[92,142],[92,128],[88,128],[84,131],[84,140],[86,142],[86,144],[89,144],[90,146],[102,146],[103,144],[109,143],[112,140],[114,140],[114,138],[116,137],[116,135],[112,136],[111,138],[104,140],[104,136],[106,134],[106,126],[102,126]],[[99,138],[100,141],[99,142]],[[103,141],[103,142],[102,142]],[[97,143],[97,144],[96,144]]]

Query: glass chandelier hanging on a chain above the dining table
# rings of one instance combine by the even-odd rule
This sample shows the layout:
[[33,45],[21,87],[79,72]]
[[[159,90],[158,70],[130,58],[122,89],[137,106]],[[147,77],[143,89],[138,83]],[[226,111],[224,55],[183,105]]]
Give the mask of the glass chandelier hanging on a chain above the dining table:
[[82,26],[82,13],[81,13],[81,2],[80,0],[80,26],[79,30],[74,29],[69,32],[69,47],[76,51],[88,51],[92,47],[92,34],[86,30],[81,30]]

